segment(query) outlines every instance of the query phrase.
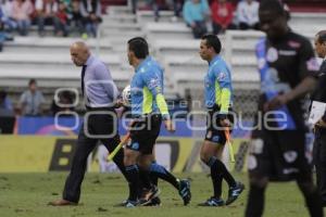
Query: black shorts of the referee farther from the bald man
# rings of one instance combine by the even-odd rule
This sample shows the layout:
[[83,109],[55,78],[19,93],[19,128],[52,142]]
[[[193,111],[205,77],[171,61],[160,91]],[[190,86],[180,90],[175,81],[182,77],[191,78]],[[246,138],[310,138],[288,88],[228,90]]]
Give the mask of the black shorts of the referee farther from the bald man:
[[[231,111],[231,110],[230,110]],[[225,137],[225,129],[220,124],[218,118],[220,110],[213,110],[208,112],[206,117],[206,133],[205,139],[206,141],[217,143],[217,144],[225,144],[226,137]],[[227,115],[227,118],[230,123],[234,123],[234,116],[231,114]],[[231,132],[231,130],[230,130]]]

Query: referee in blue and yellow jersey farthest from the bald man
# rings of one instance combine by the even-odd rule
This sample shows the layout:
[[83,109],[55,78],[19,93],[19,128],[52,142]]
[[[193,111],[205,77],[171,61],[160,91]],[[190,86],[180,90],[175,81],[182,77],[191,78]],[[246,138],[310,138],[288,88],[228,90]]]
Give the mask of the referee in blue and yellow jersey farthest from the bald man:
[[[200,150],[200,158],[211,169],[214,195],[199,206],[223,206],[234,203],[244,186],[235,180],[227,170],[221,156],[226,143],[225,129],[233,122],[233,85],[231,73],[220,55],[221,41],[215,35],[204,35],[200,42],[200,56],[208,61],[209,69],[204,78],[204,102],[208,110],[208,129]],[[222,181],[228,183],[229,191],[226,202],[222,196]]]

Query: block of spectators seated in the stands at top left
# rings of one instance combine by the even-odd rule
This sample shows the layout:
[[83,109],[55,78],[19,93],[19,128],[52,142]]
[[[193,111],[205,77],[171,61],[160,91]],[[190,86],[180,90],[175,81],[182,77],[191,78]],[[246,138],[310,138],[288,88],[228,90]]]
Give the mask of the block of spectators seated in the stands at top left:
[[53,27],[54,36],[72,31],[96,37],[101,18],[100,0],[0,0],[0,40],[17,31],[28,36],[30,25],[45,36],[45,25]]

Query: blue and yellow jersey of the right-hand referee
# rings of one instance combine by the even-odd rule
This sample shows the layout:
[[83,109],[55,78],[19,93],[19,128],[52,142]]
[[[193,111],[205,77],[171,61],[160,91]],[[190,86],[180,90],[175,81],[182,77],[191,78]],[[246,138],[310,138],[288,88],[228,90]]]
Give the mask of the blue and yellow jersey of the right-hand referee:
[[231,74],[226,62],[216,55],[209,64],[204,79],[205,106],[213,108],[216,104],[221,113],[227,113],[233,101]]

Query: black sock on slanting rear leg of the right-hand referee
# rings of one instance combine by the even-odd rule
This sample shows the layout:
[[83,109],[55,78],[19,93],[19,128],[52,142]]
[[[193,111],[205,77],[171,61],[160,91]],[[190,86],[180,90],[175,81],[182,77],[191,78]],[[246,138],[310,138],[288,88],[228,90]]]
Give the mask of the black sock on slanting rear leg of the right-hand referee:
[[[218,176],[222,176],[226,180],[226,182],[228,183],[229,187],[235,187],[237,184],[233,175],[230,175],[230,173],[227,170],[226,166],[217,157],[211,156],[208,162],[208,165],[209,165],[209,167],[211,167],[212,178],[217,178]],[[214,183],[214,181],[213,181],[213,183]],[[222,181],[221,181],[221,184],[222,184]]]

